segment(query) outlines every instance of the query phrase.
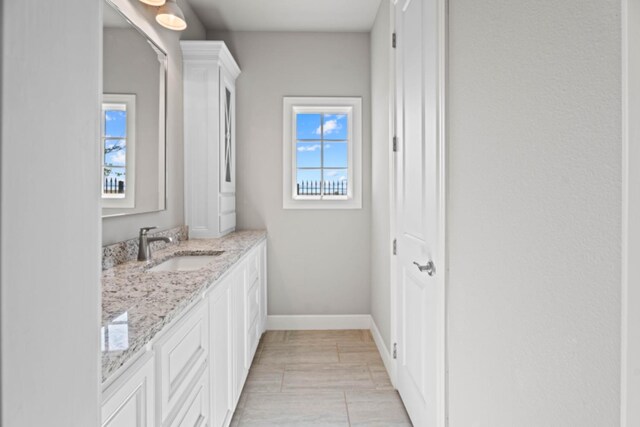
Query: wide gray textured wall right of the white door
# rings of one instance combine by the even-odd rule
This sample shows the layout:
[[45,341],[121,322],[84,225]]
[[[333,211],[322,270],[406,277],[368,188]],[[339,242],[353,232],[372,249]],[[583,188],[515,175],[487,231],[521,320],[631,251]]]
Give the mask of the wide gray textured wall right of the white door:
[[620,2],[449,12],[450,425],[619,425]]

